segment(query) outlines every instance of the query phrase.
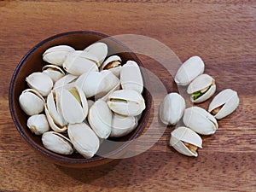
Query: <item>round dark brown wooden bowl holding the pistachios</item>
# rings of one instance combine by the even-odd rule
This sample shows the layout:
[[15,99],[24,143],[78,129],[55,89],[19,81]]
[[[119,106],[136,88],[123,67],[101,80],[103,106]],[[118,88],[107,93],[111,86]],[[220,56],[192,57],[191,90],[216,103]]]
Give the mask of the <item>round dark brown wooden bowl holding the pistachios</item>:
[[[20,132],[20,135],[24,137],[26,142],[29,143],[32,148],[35,148],[39,154],[42,154],[45,158],[60,166],[99,166],[120,157],[120,155],[125,152],[125,148],[142,133],[148,120],[148,113],[151,106],[151,96],[148,93],[148,90],[144,89],[143,97],[145,99],[146,109],[143,111],[142,116],[138,121],[137,128],[125,137],[113,139],[113,141],[119,144],[115,143],[113,146],[109,146],[108,143],[108,146],[106,146],[105,142],[103,142],[99,148],[99,150],[102,150],[103,148],[103,152],[101,152],[102,155],[95,155],[90,159],[84,159],[83,156],[75,153],[71,155],[55,154],[54,152],[44,148],[41,142],[41,136],[32,134],[32,132],[27,128],[26,121],[28,116],[20,108],[19,96],[22,90],[28,88],[25,81],[26,76],[33,72],[41,72],[42,67],[47,64],[42,59],[42,54],[44,51],[49,47],[61,44],[67,44],[72,46],[74,49],[84,49],[88,45],[99,40],[105,44],[108,44],[108,55],[119,55],[122,58],[123,63],[125,63],[127,60],[133,60],[137,61],[138,65],[143,66],[142,62],[134,53],[131,52],[129,48],[125,47],[124,44],[121,44],[114,38],[97,32],[65,32],[57,34],[51,38],[47,38],[29,50],[16,67],[10,83],[9,108],[15,122],[15,126]],[[109,140],[112,139],[109,138]]]

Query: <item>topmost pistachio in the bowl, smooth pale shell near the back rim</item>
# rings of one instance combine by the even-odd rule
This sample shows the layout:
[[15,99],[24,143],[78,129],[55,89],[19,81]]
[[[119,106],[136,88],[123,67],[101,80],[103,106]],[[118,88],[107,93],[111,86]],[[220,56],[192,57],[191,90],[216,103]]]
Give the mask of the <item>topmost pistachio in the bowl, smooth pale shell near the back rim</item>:
[[90,44],[90,46],[86,47],[84,51],[95,55],[99,61],[97,66],[100,67],[108,55],[108,45],[102,42],[96,42],[94,44]]

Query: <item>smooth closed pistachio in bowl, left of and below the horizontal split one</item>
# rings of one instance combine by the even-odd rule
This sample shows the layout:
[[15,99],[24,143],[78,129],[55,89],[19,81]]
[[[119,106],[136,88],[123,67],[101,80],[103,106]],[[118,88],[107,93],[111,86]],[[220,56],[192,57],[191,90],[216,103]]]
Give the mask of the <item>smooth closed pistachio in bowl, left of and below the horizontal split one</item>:
[[106,102],[98,100],[90,107],[88,121],[98,137],[108,138],[111,132],[112,112]]

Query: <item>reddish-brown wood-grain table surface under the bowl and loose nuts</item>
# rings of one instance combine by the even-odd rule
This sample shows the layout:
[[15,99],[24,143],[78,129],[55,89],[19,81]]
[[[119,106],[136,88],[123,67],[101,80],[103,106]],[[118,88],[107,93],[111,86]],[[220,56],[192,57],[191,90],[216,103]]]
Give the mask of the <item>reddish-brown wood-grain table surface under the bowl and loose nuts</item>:
[[[0,21],[0,191],[256,191],[255,1],[2,0]],[[167,146],[170,127],[135,157],[87,169],[55,166],[16,131],[9,82],[32,46],[56,33],[80,30],[154,38],[181,61],[200,55],[218,92],[238,91],[239,108],[218,121],[218,131],[203,139],[197,158]],[[172,91],[166,70],[140,58]]]

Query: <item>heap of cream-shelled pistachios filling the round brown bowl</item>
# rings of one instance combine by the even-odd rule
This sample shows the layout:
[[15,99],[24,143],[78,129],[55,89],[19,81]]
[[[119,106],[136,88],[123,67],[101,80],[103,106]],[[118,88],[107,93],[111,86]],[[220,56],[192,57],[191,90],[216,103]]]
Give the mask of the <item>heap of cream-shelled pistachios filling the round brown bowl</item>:
[[91,158],[102,139],[123,137],[137,127],[146,108],[140,68],[136,61],[107,55],[102,42],[84,50],[57,45],[45,50],[42,72],[26,77],[20,108],[45,148]]

